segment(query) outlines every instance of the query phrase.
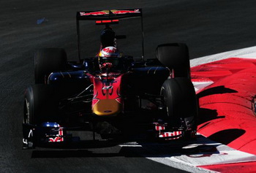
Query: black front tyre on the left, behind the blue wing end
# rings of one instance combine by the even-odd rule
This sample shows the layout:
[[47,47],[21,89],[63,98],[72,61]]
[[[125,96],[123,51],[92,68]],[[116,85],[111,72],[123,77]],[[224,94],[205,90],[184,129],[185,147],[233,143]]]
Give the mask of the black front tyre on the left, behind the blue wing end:
[[23,123],[39,125],[58,121],[58,101],[50,85],[34,85],[26,89]]

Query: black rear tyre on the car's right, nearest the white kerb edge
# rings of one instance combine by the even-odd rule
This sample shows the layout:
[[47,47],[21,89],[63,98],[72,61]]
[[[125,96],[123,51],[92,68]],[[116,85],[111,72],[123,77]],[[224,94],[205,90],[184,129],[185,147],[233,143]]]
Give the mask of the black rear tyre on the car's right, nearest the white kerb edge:
[[189,49],[186,44],[159,45],[157,59],[174,72],[174,77],[190,78]]

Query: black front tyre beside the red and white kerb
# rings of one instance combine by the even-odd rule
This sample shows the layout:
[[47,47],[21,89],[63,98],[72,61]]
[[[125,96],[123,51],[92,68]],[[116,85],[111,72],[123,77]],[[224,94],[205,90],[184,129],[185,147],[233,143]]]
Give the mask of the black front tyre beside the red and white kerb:
[[195,118],[197,128],[197,99],[192,82],[185,77],[165,80],[162,85],[161,95],[167,107],[167,120],[171,126],[179,126],[181,118]]

